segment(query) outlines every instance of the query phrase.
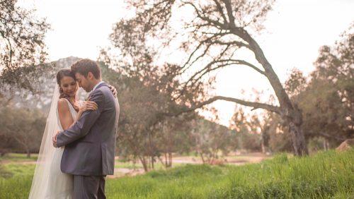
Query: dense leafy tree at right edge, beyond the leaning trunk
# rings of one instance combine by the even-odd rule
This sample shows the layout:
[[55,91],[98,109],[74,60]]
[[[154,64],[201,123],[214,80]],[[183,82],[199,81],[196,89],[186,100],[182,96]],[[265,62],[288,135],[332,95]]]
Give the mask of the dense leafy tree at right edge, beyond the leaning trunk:
[[306,89],[297,96],[309,138],[332,147],[354,137],[354,23],[334,47],[324,46]]

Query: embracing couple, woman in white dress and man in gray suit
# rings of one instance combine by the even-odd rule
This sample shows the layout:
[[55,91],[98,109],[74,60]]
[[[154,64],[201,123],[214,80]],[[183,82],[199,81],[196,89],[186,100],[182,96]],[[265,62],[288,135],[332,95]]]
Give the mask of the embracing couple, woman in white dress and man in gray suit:
[[[79,87],[89,92],[85,102],[77,100]],[[105,198],[120,111],[115,95],[96,61],[58,71],[29,198]]]

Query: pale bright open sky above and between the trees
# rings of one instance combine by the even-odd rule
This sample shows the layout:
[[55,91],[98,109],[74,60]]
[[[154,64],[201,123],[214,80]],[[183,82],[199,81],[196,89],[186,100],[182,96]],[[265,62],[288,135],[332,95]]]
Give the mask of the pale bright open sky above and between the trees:
[[[18,5],[35,8],[36,15],[51,24],[45,39],[50,61],[68,56],[97,59],[99,49],[110,44],[113,24],[128,16],[124,0],[21,0]],[[314,70],[319,47],[333,46],[354,21],[353,10],[352,0],[277,1],[263,24],[265,30],[254,37],[284,83],[292,68],[305,75]],[[272,93],[268,80],[244,67],[219,71],[215,87],[215,95],[241,99],[253,98],[252,90],[263,90],[263,102]],[[212,106],[219,110],[220,123],[228,126],[235,104]]]

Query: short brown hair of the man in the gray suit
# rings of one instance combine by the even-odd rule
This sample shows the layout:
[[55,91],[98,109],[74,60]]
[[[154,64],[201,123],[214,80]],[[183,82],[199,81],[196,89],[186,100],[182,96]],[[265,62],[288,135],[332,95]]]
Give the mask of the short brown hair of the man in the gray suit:
[[91,72],[96,79],[101,79],[101,69],[97,62],[92,61],[91,59],[81,59],[76,61],[71,68],[74,74],[80,73],[87,78],[87,74]]

